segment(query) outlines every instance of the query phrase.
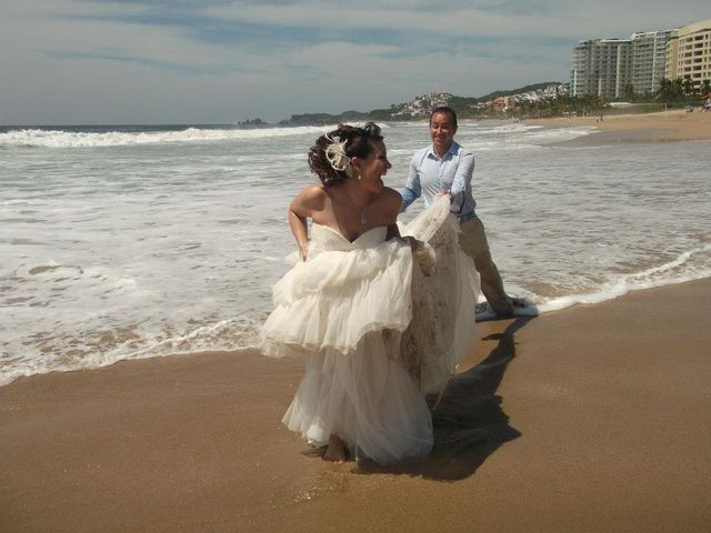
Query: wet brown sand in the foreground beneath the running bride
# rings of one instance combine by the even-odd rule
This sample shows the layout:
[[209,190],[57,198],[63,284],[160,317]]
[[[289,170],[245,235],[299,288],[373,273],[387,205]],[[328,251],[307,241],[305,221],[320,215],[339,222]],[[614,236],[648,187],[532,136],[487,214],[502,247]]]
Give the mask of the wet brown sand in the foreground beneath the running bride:
[[330,465],[298,361],[196,354],[0,388],[0,531],[701,532],[711,280],[480,324],[430,459]]

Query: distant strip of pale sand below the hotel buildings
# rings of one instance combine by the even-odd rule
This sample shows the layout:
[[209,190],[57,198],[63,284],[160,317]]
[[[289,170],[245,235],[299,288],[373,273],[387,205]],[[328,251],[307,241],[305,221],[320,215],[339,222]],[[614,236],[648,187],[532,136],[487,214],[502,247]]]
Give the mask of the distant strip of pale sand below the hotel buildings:
[[545,125],[551,128],[568,128],[570,125],[591,125],[600,129],[585,138],[602,142],[635,142],[635,141],[692,141],[711,140],[711,113],[683,110],[672,110],[648,114],[613,114],[603,117],[599,122],[597,117],[577,117],[569,119],[531,119],[527,124]]

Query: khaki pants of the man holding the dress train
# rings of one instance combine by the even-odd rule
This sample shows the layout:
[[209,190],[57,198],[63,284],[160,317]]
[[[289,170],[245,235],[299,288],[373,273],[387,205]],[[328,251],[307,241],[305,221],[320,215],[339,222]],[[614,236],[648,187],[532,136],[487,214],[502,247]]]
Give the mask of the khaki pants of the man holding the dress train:
[[491,260],[484,224],[479,217],[474,217],[462,222],[460,229],[462,232],[459,235],[459,244],[464,253],[474,260],[474,266],[481,278],[481,292],[484,293],[489,305],[498,314],[511,314],[513,312],[511,300],[503,292],[501,274]]

